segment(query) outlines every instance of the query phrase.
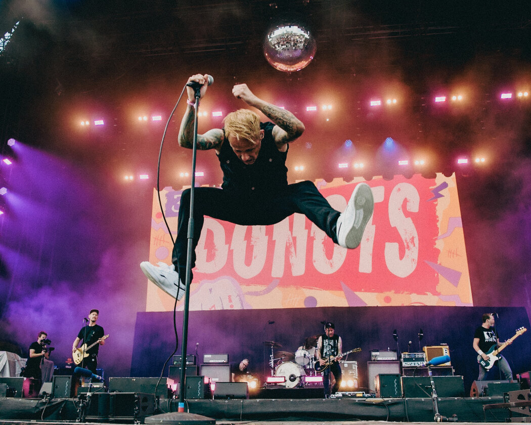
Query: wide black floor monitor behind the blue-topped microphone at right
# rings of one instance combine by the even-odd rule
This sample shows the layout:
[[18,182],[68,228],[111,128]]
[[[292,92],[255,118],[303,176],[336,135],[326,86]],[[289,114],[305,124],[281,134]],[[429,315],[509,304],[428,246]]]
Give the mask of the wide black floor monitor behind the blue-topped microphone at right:
[[[402,376],[402,392],[406,398],[431,398],[432,387],[428,376]],[[462,376],[434,376],[433,382],[438,397],[464,397],[465,385]]]

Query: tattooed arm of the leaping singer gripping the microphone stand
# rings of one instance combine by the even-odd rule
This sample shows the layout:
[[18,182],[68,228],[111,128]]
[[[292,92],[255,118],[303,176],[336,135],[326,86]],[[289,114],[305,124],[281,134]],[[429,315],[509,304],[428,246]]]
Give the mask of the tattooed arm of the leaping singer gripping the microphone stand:
[[[208,77],[206,75],[196,74],[192,75],[188,79],[188,82],[198,82],[202,84],[201,97],[204,96],[207,91]],[[187,87],[188,98],[190,101],[195,102],[195,92],[191,87]],[[183,120],[181,121],[181,128],[179,129],[179,146],[183,148],[192,149],[194,141],[194,123],[195,123],[195,111],[190,105],[186,107]],[[224,133],[221,129],[212,129],[204,134],[198,134],[197,148],[200,150],[216,149],[219,153],[219,148],[224,140]]]

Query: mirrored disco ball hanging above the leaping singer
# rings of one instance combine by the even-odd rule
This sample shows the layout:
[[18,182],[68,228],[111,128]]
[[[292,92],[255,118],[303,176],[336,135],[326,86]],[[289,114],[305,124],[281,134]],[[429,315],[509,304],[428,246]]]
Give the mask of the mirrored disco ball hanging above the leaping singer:
[[317,44],[304,25],[284,22],[269,27],[264,40],[263,52],[271,66],[279,71],[300,71],[312,62]]

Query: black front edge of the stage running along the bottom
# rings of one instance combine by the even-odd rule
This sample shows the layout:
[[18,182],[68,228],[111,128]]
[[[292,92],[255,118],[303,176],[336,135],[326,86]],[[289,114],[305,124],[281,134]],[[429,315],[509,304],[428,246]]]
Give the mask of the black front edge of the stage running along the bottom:
[[[295,393],[294,393],[295,395]],[[457,415],[459,422],[506,422],[510,418],[507,409],[487,409],[487,404],[502,403],[503,397],[439,398],[439,412],[444,417]],[[74,398],[38,400],[31,398],[0,398],[0,420],[73,422],[78,417],[79,401]],[[127,411],[127,406],[123,406]],[[177,400],[161,399],[159,411],[175,412]],[[431,398],[254,398],[245,400],[187,400],[185,410],[201,414],[217,421],[393,421],[433,422]],[[97,410],[96,410],[97,411]],[[87,422],[133,423],[133,411],[122,417],[92,416]],[[143,422],[142,414],[137,418]]]

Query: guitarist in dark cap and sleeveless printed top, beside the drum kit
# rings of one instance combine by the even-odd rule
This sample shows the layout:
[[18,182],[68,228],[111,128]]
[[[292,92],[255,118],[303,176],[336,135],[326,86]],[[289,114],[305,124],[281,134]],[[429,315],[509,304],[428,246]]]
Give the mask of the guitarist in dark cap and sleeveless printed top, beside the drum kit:
[[[324,324],[324,334],[320,335],[317,341],[317,360],[321,366],[330,362],[330,357],[333,358],[330,366],[323,372],[324,398],[329,398],[330,394],[336,393],[341,385],[341,366],[339,366],[338,361],[341,358],[342,341],[341,337],[335,334],[334,328],[335,326],[331,322]],[[336,379],[331,392],[330,372]]]

